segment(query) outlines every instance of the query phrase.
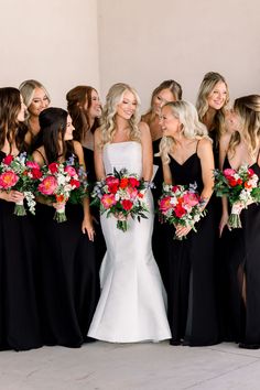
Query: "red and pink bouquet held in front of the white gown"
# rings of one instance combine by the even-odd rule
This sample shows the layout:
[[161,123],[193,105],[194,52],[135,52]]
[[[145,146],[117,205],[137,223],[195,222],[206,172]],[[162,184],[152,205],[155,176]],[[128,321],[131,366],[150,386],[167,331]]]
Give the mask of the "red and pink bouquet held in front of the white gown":
[[113,170],[113,174],[97,182],[91,197],[91,205],[100,207],[100,213],[107,214],[107,217],[113,215],[117,218],[117,228],[127,231],[128,219],[147,218],[144,213],[149,212],[148,204],[144,201],[144,193],[151,186],[151,183],[138,180],[136,174],[130,174],[126,169]]

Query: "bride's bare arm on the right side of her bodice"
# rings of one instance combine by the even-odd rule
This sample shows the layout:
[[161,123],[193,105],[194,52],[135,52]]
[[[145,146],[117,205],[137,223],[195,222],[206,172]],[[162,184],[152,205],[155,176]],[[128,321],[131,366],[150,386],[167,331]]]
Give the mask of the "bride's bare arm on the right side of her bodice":
[[144,122],[139,123],[142,144],[142,176],[150,182],[153,173],[152,139],[149,126]]

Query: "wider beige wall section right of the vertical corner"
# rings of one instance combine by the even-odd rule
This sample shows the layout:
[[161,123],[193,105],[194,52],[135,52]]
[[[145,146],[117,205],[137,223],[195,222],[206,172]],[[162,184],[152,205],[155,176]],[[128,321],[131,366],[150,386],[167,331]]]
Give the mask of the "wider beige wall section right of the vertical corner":
[[164,79],[195,102],[205,73],[223,74],[231,98],[260,94],[259,0],[98,0],[101,95],[134,86],[149,107]]

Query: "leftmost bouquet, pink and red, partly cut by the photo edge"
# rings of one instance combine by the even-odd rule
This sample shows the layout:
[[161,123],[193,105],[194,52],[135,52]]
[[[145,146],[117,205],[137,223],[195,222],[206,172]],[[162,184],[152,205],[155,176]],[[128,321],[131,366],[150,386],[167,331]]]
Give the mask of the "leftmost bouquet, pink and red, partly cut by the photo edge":
[[[26,158],[26,153],[18,156],[11,154],[2,159],[0,164],[0,188],[4,191],[15,189],[24,195],[29,210],[35,214],[35,196],[40,177],[42,176],[40,165]],[[26,215],[23,201],[15,203],[14,214]]]

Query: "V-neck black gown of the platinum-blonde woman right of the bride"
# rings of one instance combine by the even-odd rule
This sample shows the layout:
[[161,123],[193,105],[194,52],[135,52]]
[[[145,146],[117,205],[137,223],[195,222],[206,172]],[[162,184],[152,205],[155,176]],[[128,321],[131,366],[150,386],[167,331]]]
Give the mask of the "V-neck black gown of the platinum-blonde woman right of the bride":
[[[202,192],[202,167],[197,153],[183,164],[173,158],[170,169],[175,184],[196,182]],[[214,214],[210,201],[207,215],[183,240],[173,240],[174,227],[167,225],[165,247],[169,271],[169,322],[171,344],[206,346],[218,343],[218,317],[215,286]]]

